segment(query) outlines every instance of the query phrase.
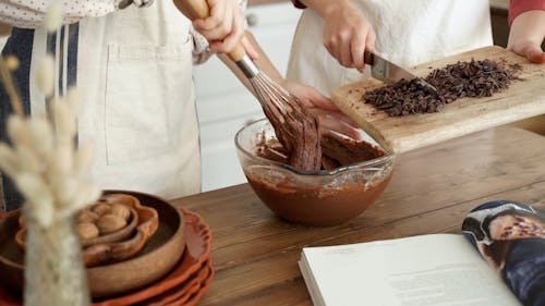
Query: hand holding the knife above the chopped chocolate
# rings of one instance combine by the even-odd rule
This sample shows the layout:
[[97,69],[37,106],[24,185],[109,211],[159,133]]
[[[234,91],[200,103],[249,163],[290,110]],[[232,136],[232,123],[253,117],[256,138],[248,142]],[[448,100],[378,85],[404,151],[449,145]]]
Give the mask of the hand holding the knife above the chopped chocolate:
[[339,63],[363,72],[363,53],[373,50],[376,35],[350,0],[301,0],[295,5],[304,4],[315,10],[325,22],[324,45]]

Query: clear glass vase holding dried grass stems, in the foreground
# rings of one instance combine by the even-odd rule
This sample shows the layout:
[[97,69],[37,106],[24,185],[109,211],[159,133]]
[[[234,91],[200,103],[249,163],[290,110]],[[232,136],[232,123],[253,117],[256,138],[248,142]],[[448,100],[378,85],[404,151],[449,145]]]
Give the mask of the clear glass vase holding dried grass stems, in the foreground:
[[73,215],[27,219],[24,305],[87,306],[90,295]]

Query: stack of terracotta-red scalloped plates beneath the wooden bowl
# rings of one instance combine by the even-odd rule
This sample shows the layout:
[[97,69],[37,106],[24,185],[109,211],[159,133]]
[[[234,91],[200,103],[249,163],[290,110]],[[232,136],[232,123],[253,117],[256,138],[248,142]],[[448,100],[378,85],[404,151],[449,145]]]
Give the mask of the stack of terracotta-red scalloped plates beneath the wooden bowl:
[[[138,291],[96,301],[96,306],[118,305],[196,305],[214,277],[211,231],[196,213],[181,208],[184,215],[185,250],[177,266],[162,279]],[[142,267],[153,269],[153,267]],[[21,301],[0,285],[0,305],[21,305]]]

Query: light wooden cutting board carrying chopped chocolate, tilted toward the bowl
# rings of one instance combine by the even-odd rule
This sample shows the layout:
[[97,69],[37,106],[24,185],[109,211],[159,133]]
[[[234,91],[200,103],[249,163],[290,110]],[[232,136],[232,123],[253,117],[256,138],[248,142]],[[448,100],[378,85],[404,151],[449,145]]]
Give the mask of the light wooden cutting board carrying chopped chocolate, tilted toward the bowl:
[[458,61],[489,59],[520,64],[518,75],[508,89],[492,97],[463,98],[446,105],[437,113],[388,117],[363,102],[362,96],[385,84],[375,78],[348,84],[334,89],[334,102],[385,149],[404,152],[419,147],[545,113],[545,64],[532,64],[497,46],[485,47],[409,69],[424,77],[432,70]]

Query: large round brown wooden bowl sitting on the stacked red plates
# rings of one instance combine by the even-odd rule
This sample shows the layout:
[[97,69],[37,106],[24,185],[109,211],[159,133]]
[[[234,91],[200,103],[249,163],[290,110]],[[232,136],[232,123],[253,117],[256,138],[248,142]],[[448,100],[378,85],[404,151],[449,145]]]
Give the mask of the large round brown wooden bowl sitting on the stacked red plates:
[[[185,248],[184,217],[169,203],[147,194],[110,191],[105,194],[128,194],[143,206],[154,208],[159,217],[156,233],[133,258],[110,265],[87,268],[90,295],[94,298],[128,293],[157,281],[180,260]],[[0,281],[15,294],[24,283],[24,254],[15,244],[20,211],[0,221]]]

